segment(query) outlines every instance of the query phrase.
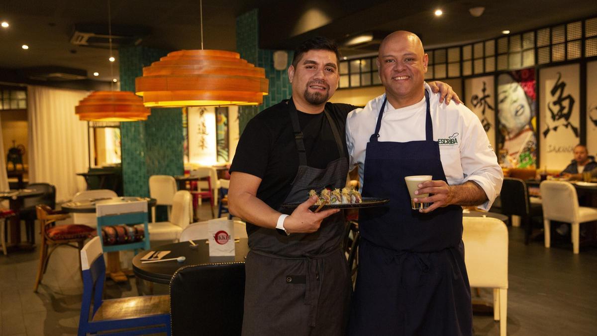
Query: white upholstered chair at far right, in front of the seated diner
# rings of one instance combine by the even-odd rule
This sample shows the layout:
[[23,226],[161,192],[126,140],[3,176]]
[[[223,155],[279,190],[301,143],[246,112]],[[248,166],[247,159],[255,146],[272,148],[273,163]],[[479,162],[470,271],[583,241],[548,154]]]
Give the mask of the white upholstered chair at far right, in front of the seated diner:
[[566,222],[572,226],[572,246],[574,254],[578,254],[580,223],[597,221],[597,208],[578,206],[576,189],[568,182],[543,181],[539,188],[543,200],[545,247],[551,245],[550,221]]

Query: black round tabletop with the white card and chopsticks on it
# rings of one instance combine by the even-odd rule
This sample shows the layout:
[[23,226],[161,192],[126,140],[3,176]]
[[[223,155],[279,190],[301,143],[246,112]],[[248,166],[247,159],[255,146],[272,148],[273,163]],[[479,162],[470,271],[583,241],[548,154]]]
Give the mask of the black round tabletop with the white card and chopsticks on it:
[[149,264],[141,264],[141,258],[149,251],[143,251],[133,258],[133,271],[140,279],[151,282],[169,284],[170,279],[174,273],[183,266],[188,265],[202,265],[202,264],[219,264],[221,262],[245,262],[247,253],[249,253],[249,246],[247,238],[241,238],[238,243],[235,243],[235,256],[210,256],[210,245],[206,244],[206,239],[193,240],[198,246],[191,248],[189,242],[173,243],[168,245],[158,246],[152,251],[171,251],[164,258],[177,258],[184,256],[186,258],[183,262],[164,261],[152,262]]

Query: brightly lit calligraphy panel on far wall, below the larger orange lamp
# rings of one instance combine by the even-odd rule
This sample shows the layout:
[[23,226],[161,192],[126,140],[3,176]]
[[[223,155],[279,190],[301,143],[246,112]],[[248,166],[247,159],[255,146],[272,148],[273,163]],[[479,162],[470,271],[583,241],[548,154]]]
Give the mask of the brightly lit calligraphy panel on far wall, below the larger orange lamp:
[[189,161],[204,165],[217,162],[216,109],[187,109],[189,123]]

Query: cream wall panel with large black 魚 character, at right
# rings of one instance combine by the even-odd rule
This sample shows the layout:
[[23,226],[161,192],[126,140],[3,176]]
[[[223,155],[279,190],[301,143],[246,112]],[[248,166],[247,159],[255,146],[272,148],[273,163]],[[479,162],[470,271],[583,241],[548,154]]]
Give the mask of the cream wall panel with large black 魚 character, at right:
[[580,142],[579,75],[578,64],[539,72],[541,166],[549,169],[564,169]]

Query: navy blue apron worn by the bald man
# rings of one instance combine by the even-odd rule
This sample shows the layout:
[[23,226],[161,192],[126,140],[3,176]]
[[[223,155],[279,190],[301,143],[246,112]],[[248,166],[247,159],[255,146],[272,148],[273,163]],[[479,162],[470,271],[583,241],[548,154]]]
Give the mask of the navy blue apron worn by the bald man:
[[462,209],[411,210],[405,176],[446,181],[433,141],[427,105],[426,139],[367,144],[363,196],[390,198],[387,206],[359,212],[359,273],[350,312],[350,335],[472,335],[469,279],[464,267]]

